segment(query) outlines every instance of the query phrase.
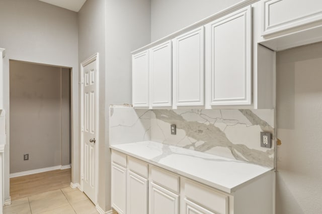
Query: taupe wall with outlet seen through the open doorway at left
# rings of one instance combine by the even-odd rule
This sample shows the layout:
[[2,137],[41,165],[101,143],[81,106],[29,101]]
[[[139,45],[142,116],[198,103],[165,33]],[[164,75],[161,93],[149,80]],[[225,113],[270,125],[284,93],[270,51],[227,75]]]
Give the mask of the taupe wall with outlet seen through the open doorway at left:
[[69,164],[68,74],[10,61],[10,173]]

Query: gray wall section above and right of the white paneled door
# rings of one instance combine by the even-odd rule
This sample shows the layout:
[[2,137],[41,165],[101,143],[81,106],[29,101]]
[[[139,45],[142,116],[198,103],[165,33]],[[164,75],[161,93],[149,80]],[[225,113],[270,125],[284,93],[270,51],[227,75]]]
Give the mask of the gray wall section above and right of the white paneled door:
[[[98,192],[98,204],[103,209],[106,206],[106,157],[105,157],[105,142],[108,139],[106,135],[105,118],[106,106],[105,106],[105,0],[90,0],[87,1],[82,9],[78,12],[78,61],[82,63],[87,58],[91,57],[95,53],[99,53],[99,137],[96,145],[99,145],[99,192]],[[80,104],[79,104],[80,105]],[[79,115],[80,117],[81,115]],[[80,124],[79,124],[80,125]],[[79,133],[80,134],[80,133]],[[79,159],[80,161],[80,159]]]

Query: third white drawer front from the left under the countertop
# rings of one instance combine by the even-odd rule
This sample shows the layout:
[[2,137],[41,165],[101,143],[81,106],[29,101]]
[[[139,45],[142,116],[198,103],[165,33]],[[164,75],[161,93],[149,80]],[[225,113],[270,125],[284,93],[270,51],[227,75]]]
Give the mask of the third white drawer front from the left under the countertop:
[[175,192],[180,191],[180,177],[172,172],[152,166],[151,180]]

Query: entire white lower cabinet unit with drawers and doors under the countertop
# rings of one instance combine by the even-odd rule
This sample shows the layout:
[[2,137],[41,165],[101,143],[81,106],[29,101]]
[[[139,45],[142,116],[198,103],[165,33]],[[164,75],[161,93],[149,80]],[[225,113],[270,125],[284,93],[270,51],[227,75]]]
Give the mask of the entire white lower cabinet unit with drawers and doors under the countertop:
[[274,179],[270,171],[227,193],[112,150],[112,207],[119,214],[272,214]]

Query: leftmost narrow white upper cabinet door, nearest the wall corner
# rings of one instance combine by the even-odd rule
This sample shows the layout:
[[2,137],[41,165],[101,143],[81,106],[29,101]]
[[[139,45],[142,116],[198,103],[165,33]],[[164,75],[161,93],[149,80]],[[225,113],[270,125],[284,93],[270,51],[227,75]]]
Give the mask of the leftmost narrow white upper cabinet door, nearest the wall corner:
[[132,56],[133,107],[149,107],[149,55],[148,51]]

